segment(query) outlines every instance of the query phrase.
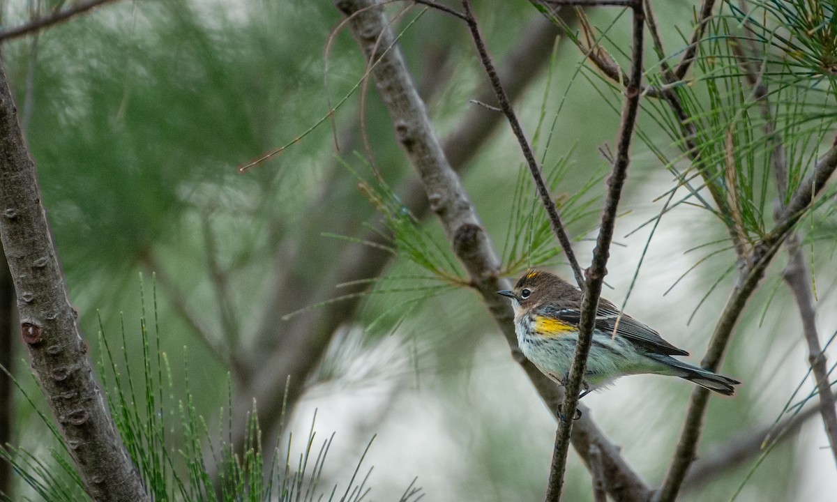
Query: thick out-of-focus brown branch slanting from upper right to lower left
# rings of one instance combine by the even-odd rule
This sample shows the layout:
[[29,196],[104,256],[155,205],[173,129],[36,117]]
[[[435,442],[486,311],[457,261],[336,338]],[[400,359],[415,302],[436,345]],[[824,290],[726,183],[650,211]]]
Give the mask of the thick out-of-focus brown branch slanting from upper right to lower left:
[[[567,21],[571,22],[572,18]],[[555,38],[559,33],[552,23],[540,17],[534,18],[523,31],[520,43],[507,54],[500,69],[501,78],[508,85],[506,90],[512,100],[520,96],[528,85],[531,85],[539,74],[539,70],[547,63],[552,54]],[[475,91],[477,100],[491,103],[495,100],[494,96],[494,91],[487,84],[481,85]],[[476,152],[490,141],[492,134],[501,124],[502,117],[503,115],[485,110],[481,106],[467,107],[459,125],[454,128],[443,144],[444,155],[449,159],[455,171],[465,170]],[[344,144],[346,142],[343,141]],[[326,192],[327,199],[331,202],[341,197],[356,197],[357,192],[353,187],[350,187],[351,193],[343,193],[340,191],[344,190],[345,184],[332,185],[333,189]],[[398,192],[402,194],[401,200],[413,216],[420,219],[429,213],[428,198],[419,177],[410,177]],[[317,204],[316,207],[321,207],[321,204]],[[344,212],[342,207],[340,210]],[[337,219],[329,220],[331,225],[329,231],[345,235],[357,232],[357,218],[335,225],[334,222]],[[310,228],[306,228],[300,238],[300,249],[310,248],[311,239],[319,238],[322,224],[315,226],[311,223],[320,223],[320,221],[316,219],[314,222],[309,222]],[[331,336],[342,323],[352,319],[362,300],[362,295],[326,305],[311,315],[298,315],[290,321],[281,320],[281,316],[296,308],[330,298],[334,295],[333,284],[351,283],[383,274],[392,256],[374,246],[389,244],[387,238],[381,233],[370,230],[360,239],[362,242],[371,243],[372,246],[347,245],[339,248],[335,254],[328,255],[322,262],[333,264],[333,274],[326,276],[326,280],[323,281],[325,285],[310,293],[300,295],[299,299],[289,300],[288,291],[298,292],[305,287],[305,281],[301,280],[295,271],[305,269],[303,263],[307,261],[300,259],[300,256],[304,254],[306,259],[310,259],[310,253],[304,251],[301,254],[300,252],[291,253],[292,256],[289,258],[289,253],[280,249],[277,254],[275,261],[280,274],[277,275],[271,293],[270,306],[266,309],[262,326],[259,328],[257,342],[257,346],[260,346],[261,351],[268,356],[259,359],[264,362],[254,366],[253,376],[248,379],[253,382],[253,387],[245,389],[250,392],[238,392],[242,399],[248,395],[256,396],[259,402],[259,425],[263,428],[266,438],[270,438],[270,433],[274,430],[275,424],[279,423],[282,414],[282,400],[276,394],[275,389],[285,388],[285,382],[290,376],[287,403],[288,409],[292,409],[305,389],[305,382],[311,369],[320,361],[331,341]],[[288,266],[289,261],[295,265]],[[351,292],[362,293],[363,290],[352,289]],[[299,301],[300,305],[296,306],[291,303],[295,301]],[[252,402],[247,398],[235,408],[244,411],[251,407]],[[241,439],[243,440],[243,437]]]

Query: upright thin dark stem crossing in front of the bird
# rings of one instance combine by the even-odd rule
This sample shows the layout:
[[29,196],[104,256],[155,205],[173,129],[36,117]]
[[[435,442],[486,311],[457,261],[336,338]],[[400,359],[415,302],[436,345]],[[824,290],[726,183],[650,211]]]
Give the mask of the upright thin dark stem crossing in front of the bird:
[[619,198],[622,195],[625,178],[628,175],[630,162],[630,144],[634,137],[634,127],[639,112],[639,87],[642,84],[642,53],[645,16],[641,0],[633,3],[633,28],[631,39],[631,68],[628,85],[625,88],[622,117],[619,121],[619,140],[616,147],[616,158],[613,171],[608,178],[608,193],[604,201],[602,219],[599,224],[596,248],[593,249],[593,263],[587,271],[587,284],[584,288],[584,298],[581,307],[581,319],[578,322],[578,342],[576,343],[573,365],[570,366],[569,377],[564,382],[564,402],[562,407],[566,422],[558,425],[555,440],[555,450],[552,453],[552,469],[547,486],[547,501],[557,502],[561,498],[564,471],[567,467],[567,451],[569,448],[570,429],[573,427],[572,417],[578,406],[578,393],[581,391],[587,357],[593,341],[593,326],[596,320],[598,297],[602,293],[605,268],[608,263],[610,242],[616,225],[616,215]]

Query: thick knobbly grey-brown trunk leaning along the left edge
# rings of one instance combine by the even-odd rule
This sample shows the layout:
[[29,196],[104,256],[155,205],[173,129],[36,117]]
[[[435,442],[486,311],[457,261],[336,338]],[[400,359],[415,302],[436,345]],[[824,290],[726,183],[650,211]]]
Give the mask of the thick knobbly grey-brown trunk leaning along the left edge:
[[21,336],[85,489],[94,500],[148,500],[93,378],[2,66],[0,201]]

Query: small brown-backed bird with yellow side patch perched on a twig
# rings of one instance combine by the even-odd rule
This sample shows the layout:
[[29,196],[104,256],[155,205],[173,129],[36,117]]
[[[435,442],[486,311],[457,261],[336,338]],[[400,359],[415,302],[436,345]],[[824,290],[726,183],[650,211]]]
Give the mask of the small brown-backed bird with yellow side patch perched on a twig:
[[[517,344],[523,354],[544,374],[563,384],[578,341],[581,291],[555,274],[533,270],[517,281],[515,289],[497,293],[511,298]],[[638,320],[625,314],[620,316],[614,304],[601,298],[584,390],[579,397],[607,387],[619,376],[642,373],[680,376],[711,391],[732,396],[735,392],[732,386],[741,382],[672,357],[688,355]]]

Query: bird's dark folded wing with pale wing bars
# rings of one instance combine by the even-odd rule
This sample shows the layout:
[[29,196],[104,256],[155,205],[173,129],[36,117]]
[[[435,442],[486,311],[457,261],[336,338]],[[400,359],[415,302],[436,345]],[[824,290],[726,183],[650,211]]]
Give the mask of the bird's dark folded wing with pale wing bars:
[[[562,320],[567,324],[578,325],[581,320],[581,311],[576,308],[555,308],[547,307],[545,312],[547,315],[552,315],[558,320]],[[617,322],[619,320],[619,322]],[[598,310],[596,311],[596,328],[605,333],[613,333],[616,331],[616,336],[624,336],[629,341],[633,341],[639,346],[643,346],[645,350],[655,352],[657,354],[665,354],[666,356],[688,356],[689,352],[671,345],[669,342],[663,340],[660,333],[652,330],[647,325],[635,320],[627,314],[619,315],[619,310],[610,304],[607,300],[599,302]]]

